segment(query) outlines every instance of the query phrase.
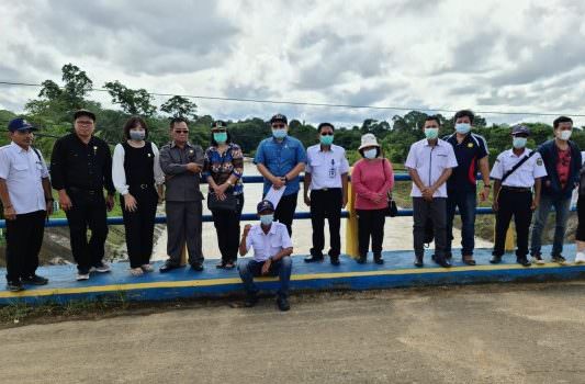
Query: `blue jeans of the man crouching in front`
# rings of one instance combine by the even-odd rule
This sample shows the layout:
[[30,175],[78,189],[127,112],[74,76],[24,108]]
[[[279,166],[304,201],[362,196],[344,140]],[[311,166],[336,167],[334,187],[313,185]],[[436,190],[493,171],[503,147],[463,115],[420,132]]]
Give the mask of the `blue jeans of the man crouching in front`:
[[[262,266],[266,261],[241,260],[238,263],[238,271],[241,281],[244,282],[244,289],[248,295],[255,295],[258,293],[258,287],[254,283],[255,276],[262,275]],[[272,262],[268,275],[280,279],[280,289],[278,291],[279,297],[289,296],[289,282],[291,281],[292,259],[289,256],[283,257],[279,261]]]

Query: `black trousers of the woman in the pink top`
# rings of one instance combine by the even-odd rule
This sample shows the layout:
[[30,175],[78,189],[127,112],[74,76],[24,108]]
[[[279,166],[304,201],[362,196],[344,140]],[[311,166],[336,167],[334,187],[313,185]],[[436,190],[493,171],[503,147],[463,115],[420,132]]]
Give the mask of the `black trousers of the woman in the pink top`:
[[386,210],[356,210],[358,214],[358,251],[360,257],[368,255],[370,237],[372,238],[372,252],[374,257],[382,255],[384,240],[384,224]]

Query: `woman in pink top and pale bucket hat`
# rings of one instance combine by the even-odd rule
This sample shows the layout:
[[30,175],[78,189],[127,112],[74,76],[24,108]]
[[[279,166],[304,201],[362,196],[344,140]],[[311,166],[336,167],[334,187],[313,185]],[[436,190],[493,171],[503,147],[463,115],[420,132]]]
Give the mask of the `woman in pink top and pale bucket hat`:
[[389,191],[394,185],[392,163],[384,159],[382,150],[374,135],[365,134],[361,137],[358,151],[363,157],[356,162],[351,172],[351,185],[356,193],[356,212],[358,214],[358,263],[365,263],[370,237],[374,262],[383,264],[382,240],[384,239],[384,223],[386,219]]

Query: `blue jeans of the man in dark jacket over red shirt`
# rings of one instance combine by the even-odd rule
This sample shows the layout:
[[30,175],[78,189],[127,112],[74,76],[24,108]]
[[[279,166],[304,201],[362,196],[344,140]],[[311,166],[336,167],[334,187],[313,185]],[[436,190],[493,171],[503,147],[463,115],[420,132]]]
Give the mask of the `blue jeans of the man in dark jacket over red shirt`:
[[571,197],[541,195],[540,205],[535,212],[535,224],[530,240],[530,255],[540,255],[542,245],[542,229],[547,225],[551,207],[554,207],[556,225],[554,227],[554,239],[552,242],[552,257],[560,256],[563,252],[564,234],[566,231],[566,221],[571,208]]

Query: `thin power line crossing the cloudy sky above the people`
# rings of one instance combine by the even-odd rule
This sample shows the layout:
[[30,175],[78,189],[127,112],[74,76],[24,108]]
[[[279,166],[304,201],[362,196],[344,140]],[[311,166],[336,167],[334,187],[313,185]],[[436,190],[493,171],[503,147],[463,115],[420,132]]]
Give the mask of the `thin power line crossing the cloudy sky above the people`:
[[[21,86],[21,87],[43,87],[42,84],[27,83],[27,82],[14,82],[14,81],[2,81],[0,80],[0,86]],[[104,88],[91,88],[92,92],[108,92],[108,89]],[[179,95],[185,99],[201,99],[201,100],[213,100],[213,101],[234,101],[234,102],[246,102],[246,103],[258,103],[258,104],[277,104],[277,105],[297,105],[297,106],[326,106],[326,108],[341,108],[341,109],[360,109],[360,110],[379,110],[379,111],[428,111],[428,112],[442,112],[442,113],[457,113],[458,110],[449,109],[432,109],[432,108],[420,108],[420,106],[391,106],[391,105],[356,105],[356,104],[335,104],[335,103],[317,103],[308,101],[291,101],[291,100],[265,100],[265,99],[246,99],[246,98],[225,98],[225,97],[213,97],[213,95],[196,95],[196,94],[176,94],[176,93],[158,93],[158,92],[147,92],[149,95],[156,97],[175,97]],[[553,113],[553,112],[509,112],[509,111],[474,111],[481,115],[525,115],[525,116],[559,116],[559,115],[570,115],[573,117],[585,117],[585,114],[578,113]]]

